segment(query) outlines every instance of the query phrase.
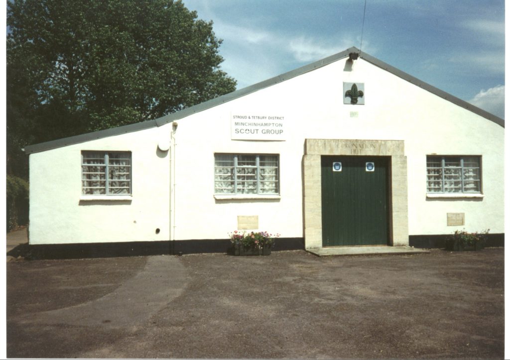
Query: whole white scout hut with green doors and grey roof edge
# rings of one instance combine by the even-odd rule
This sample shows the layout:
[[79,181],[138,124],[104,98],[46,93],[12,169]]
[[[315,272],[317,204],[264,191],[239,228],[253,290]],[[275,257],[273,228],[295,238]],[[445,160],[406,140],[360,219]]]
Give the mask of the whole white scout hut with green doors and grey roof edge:
[[[504,121],[349,48],[157,120],[29,146],[30,244],[503,239]],[[436,241],[438,240],[438,241]],[[501,242],[502,244],[502,242]]]

